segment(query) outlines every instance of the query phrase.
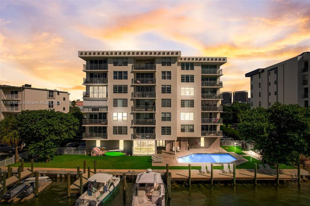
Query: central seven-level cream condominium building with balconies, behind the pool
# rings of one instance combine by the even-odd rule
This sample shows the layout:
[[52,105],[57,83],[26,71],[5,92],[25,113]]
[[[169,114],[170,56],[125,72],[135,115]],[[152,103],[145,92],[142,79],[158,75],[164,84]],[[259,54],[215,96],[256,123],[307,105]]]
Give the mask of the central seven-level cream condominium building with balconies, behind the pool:
[[173,147],[219,148],[226,57],[181,51],[79,51],[85,60],[86,149],[149,155]]

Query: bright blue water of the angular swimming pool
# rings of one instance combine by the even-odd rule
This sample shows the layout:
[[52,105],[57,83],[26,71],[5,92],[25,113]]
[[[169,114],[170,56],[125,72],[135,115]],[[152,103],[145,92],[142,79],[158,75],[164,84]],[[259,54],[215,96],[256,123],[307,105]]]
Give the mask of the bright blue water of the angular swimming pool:
[[179,157],[178,160],[179,163],[229,163],[237,159],[230,154],[190,154],[184,157]]

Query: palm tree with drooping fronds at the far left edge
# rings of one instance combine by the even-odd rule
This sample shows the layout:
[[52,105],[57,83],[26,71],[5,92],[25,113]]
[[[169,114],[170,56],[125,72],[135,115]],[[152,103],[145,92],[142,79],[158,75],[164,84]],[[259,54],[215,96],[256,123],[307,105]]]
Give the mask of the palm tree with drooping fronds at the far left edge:
[[18,144],[21,141],[20,132],[17,130],[16,119],[9,115],[0,121],[1,143],[15,144],[15,162],[18,162]]

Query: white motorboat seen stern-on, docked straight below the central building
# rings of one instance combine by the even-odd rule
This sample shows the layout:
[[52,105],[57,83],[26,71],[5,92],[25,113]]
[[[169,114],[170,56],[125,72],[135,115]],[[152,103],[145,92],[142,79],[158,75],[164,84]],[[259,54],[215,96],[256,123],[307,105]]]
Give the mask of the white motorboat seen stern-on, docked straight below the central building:
[[132,206],[164,206],[165,186],[160,173],[147,169],[139,173],[133,188]]

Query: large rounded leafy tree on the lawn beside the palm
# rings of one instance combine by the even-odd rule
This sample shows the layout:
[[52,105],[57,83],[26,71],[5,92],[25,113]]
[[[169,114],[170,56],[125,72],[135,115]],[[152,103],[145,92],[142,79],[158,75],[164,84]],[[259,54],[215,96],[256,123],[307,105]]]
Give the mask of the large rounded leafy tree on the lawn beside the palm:
[[24,110],[16,117],[21,137],[29,152],[52,160],[57,147],[75,137],[78,119],[54,110]]

